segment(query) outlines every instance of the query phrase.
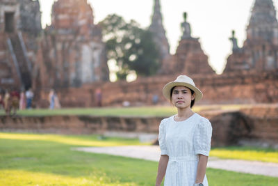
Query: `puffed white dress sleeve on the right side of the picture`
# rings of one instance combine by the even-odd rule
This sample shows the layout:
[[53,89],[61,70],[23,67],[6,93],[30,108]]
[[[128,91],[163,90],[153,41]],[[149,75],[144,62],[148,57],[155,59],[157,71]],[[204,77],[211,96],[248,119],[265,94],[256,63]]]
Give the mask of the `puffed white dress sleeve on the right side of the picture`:
[[196,155],[209,155],[209,151],[211,150],[212,131],[211,122],[206,118],[202,118],[197,124],[194,134],[194,149]]

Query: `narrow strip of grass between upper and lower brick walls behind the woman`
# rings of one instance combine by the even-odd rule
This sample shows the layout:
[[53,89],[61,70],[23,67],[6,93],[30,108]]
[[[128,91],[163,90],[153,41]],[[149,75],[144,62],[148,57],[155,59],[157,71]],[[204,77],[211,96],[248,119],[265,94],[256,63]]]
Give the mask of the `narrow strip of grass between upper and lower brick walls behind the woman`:
[[[234,110],[243,107],[250,107],[245,104],[227,104],[227,105],[196,105],[193,111],[202,110]],[[4,115],[3,109],[0,115]],[[93,116],[172,116],[177,114],[177,110],[171,106],[156,107],[102,107],[102,108],[72,108],[72,109],[31,109],[18,111],[21,116],[47,116],[47,115],[93,115]]]

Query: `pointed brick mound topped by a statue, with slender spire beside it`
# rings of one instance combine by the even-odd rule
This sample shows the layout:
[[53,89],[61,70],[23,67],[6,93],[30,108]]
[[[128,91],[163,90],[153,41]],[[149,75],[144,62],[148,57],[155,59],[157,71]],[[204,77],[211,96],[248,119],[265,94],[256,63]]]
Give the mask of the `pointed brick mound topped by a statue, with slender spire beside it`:
[[[149,30],[154,33],[154,42],[161,53],[161,69],[159,75],[186,74],[186,75],[213,75],[215,72],[208,65],[208,56],[204,54],[199,43],[199,38],[191,36],[190,24],[186,22],[186,13],[184,13],[184,22],[181,23],[183,30],[176,54],[171,55],[169,52],[169,43],[165,36],[163,27],[163,17],[161,14],[161,3],[154,0],[154,14],[152,24]],[[202,68],[199,68],[202,66]]]

